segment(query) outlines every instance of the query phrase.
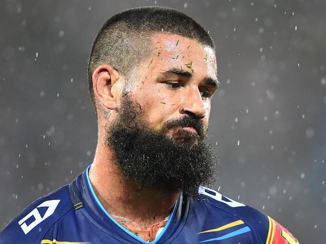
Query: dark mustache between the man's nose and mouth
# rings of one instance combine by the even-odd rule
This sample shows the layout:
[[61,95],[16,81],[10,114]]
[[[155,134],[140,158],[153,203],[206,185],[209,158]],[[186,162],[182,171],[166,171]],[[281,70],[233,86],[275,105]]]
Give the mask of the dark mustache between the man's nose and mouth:
[[208,129],[205,128],[200,118],[192,118],[189,115],[185,115],[180,119],[168,120],[162,128],[162,133],[166,133],[175,127],[193,127],[197,131],[199,137],[206,137],[208,132]]

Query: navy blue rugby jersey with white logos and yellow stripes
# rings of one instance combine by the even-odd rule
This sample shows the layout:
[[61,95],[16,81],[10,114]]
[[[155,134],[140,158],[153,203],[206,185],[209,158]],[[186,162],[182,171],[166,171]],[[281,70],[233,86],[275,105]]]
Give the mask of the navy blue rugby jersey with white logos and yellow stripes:
[[[89,166],[90,167],[90,166]],[[0,233],[0,244],[148,243],[116,222],[90,184],[88,170],[25,208]],[[258,210],[201,187],[201,200],[181,195],[150,243],[295,244]]]

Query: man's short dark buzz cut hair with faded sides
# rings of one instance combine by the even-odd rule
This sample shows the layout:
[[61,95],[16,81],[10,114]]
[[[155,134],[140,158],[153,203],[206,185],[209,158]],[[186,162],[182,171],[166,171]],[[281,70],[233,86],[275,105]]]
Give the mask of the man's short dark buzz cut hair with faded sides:
[[109,64],[128,78],[153,53],[151,37],[154,33],[186,37],[215,50],[215,44],[204,27],[175,9],[141,7],[112,16],[97,33],[88,62],[88,90],[96,114],[94,71],[102,64]]

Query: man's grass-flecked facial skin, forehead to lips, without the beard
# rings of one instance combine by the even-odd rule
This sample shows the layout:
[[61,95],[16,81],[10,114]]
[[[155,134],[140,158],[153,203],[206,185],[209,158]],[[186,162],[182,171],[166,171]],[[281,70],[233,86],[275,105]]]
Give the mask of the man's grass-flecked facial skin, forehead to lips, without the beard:
[[[175,35],[155,34],[153,54],[137,70],[127,92],[142,108],[141,116],[150,127],[162,130],[165,123],[188,114],[201,118],[208,127],[211,97],[217,89],[214,50],[195,40]],[[176,140],[178,130],[167,132]],[[193,128],[183,131],[194,132]]]

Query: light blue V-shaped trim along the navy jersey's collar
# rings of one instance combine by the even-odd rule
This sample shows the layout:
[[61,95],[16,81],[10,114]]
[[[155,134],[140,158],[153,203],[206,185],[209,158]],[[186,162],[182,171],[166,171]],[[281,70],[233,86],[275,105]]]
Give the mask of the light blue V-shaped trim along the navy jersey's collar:
[[93,187],[91,185],[91,181],[89,179],[89,174],[88,174],[88,171],[90,169],[92,165],[89,165],[86,169],[86,177],[87,177],[87,182],[88,182],[88,186],[89,186],[89,189],[91,190],[92,192],[92,195],[94,197],[94,199],[96,200],[97,204],[100,206],[100,208],[103,210],[103,212],[117,225],[119,226],[124,232],[126,232],[127,234],[129,234],[131,237],[135,238],[136,240],[140,241],[141,243],[143,244],[148,244],[148,243],[151,243],[151,244],[155,244],[158,239],[164,234],[164,232],[167,230],[168,226],[170,225],[174,215],[175,215],[175,212],[176,212],[176,208],[177,208],[177,205],[178,205],[178,201],[179,201],[179,198],[178,200],[176,201],[176,204],[172,210],[172,213],[170,214],[170,217],[169,217],[169,220],[166,224],[166,226],[164,227],[164,229],[158,234],[158,236],[151,242],[147,242],[147,241],[144,241],[143,239],[139,238],[137,235],[135,235],[134,233],[130,232],[129,230],[127,230],[126,228],[124,228],[121,224],[119,224],[117,221],[115,221],[114,218],[111,217],[111,215],[105,210],[105,208],[103,207],[102,203],[98,200],[94,190],[93,190]]

